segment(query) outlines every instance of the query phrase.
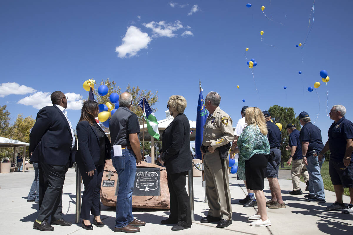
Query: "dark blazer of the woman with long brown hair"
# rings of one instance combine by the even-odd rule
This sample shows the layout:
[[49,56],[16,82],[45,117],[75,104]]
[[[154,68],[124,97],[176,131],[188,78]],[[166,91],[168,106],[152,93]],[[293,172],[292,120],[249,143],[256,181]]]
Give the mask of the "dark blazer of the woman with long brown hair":
[[[101,127],[100,131],[104,133]],[[76,126],[77,139],[78,139],[78,150],[76,153],[76,162],[79,165],[83,165],[86,172],[96,169],[99,158],[101,156],[101,150],[99,146],[99,139],[96,130],[87,121],[81,121],[77,123]],[[104,133],[106,137],[105,148],[106,154],[104,159],[110,159],[110,141],[108,136]],[[84,172],[82,172],[84,173]]]

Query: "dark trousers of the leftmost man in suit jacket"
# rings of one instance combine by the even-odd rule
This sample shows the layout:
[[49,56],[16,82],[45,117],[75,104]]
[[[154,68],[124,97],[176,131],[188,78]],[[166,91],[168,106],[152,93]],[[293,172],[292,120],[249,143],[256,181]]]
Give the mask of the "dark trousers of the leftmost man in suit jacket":
[[61,219],[62,186],[65,181],[66,166],[38,164],[39,169],[39,213],[37,219],[43,221],[52,216],[52,220]]

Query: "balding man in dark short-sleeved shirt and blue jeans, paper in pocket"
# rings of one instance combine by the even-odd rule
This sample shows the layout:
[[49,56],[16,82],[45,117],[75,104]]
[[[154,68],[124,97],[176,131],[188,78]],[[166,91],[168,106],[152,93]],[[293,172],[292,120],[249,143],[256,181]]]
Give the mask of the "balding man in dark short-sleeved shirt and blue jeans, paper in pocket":
[[[119,97],[119,108],[110,118],[109,129],[112,138],[112,163],[119,178],[119,191],[116,197],[116,232],[136,233],[145,222],[137,221],[132,215],[132,191],[136,174],[136,165],[141,162],[140,125],[136,114],[130,111],[131,94],[124,92]],[[114,154],[121,146],[122,155]],[[117,151],[118,152],[118,151]]]

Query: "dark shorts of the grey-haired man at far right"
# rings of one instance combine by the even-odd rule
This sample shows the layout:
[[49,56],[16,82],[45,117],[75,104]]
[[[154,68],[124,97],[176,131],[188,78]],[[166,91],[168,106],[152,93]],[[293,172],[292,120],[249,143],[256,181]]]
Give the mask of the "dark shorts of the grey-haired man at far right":
[[353,161],[346,168],[342,162],[329,161],[329,173],[333,185],[342,185],[344,188],[353,188]]

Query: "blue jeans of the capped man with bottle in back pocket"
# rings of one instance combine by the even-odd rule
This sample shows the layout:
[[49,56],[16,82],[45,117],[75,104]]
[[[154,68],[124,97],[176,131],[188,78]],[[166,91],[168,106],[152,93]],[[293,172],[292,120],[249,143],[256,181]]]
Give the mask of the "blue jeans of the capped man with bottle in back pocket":
[[306,169],[309,172],[309,193],[319,200],[325,200],[324,182],[317,156],[310,155],[306,160],[308,162]]

